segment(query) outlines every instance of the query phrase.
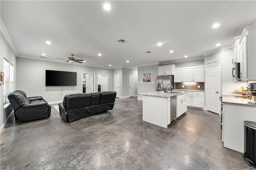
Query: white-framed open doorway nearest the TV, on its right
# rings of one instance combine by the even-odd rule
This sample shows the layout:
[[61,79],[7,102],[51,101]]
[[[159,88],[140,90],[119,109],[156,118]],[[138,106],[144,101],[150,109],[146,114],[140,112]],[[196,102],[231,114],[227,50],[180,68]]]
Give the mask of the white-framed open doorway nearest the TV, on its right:
[[82,93],[92,93],[95,84],[95,73],[82,72]]

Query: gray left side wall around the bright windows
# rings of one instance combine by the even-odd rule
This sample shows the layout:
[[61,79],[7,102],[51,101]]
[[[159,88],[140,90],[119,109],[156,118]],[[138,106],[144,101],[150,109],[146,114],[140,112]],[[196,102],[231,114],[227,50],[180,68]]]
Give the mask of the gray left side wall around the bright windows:
[[[0,47],[1,47],[1,57],[0,57],[0,72],[4,72],[4,58],[8,60],[14,66],[14,90],[16,90],[16,56],[14,55],[12,49],[7,43],[6,39],[0,34]],[[5,96],[7,97],[7,96]],[[0,127],[1,132],[4,129],[4,121],[6,121],[6,115],[4,112],[4,84],[0,85]]]

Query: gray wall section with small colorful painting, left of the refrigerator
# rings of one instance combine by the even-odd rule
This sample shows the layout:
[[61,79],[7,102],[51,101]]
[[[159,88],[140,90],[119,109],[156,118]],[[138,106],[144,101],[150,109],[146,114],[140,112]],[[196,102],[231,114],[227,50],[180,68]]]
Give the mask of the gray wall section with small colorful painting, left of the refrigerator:
[[[151,74],[151,82],[143,82],[143,74],[145,73]],[[138,67],[138,94],[155,92],[156,76],[158,76],[158,64]],[[154,84],[152,84],[152,82],[154,82]],[[138,95],[138,98],[142,98],[142,95]]]

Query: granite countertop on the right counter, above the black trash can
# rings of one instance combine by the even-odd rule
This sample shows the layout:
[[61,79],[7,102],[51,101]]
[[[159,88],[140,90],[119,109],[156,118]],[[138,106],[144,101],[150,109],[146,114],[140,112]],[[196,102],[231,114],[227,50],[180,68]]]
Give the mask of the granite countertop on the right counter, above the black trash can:
[[238,104],[238,105],[256,107],[256,104],[248,104],[248,102],[249,102],[249,98],[245,98],[243,96],[222,95],[222,103],[224,104]]

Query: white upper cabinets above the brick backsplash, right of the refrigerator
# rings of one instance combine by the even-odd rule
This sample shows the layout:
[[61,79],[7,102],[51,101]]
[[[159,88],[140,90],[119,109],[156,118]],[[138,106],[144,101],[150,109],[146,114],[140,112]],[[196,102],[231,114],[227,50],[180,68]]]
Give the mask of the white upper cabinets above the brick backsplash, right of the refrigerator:
[[204,82],[204,65],[174,68],[174,82]]

